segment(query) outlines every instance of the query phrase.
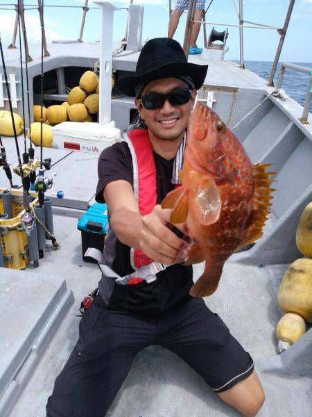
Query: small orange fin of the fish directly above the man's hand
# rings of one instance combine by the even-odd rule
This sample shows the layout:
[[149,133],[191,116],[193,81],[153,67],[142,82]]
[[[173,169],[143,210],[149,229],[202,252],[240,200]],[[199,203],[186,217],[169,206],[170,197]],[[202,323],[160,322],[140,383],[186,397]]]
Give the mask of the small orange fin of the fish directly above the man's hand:
[[187,193],[181,186],[175,188],[162,200],[162,208],[173,208],[171,213],[171,223],[182,223],[187,220]]

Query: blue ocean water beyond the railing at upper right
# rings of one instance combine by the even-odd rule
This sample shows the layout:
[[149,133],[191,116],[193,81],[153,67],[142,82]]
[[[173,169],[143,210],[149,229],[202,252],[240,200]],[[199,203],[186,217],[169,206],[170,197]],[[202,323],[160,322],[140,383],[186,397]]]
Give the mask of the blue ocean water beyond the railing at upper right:
[[[237,62],[237,61],[236,61]],[[302,65],[302,67],[308,67],[312,70],[312,63],[295,63],[297,65]],[[245,67],[248,70],[255,72],[257,75],[261,76],[263,79],[268,80],[270,72],[272,69],[272,63],[266,61],[245,61]],[[279,68],[281,64],[277,65],[277,70],[275,72],[274,83],[277,85],[277,79],[279,77]],[[286,68],[284,73],[283,83],[281,88],[283,88],[288,96],[297,101],[299,104],[304,106],[304,100],[306,98],[306,89],[309,85],[309,74],[304,74],[302,72],[296,72],[293,70],[288,70]],[[310,103],[310,113],[312,113],[312,103]]]

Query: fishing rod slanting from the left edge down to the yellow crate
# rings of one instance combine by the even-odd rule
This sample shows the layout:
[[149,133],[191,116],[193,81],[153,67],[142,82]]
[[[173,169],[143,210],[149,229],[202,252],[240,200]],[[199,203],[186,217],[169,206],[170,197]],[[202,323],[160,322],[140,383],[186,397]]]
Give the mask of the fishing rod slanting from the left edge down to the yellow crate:
[[17,161],[19,166],[19,174],[21,176],[21,183],[23,186],[23,204],[25,213],[21,216],[21,223],[24,226],[24,229],[26,233],[30,233],[31,229],[33,229],[33,216],[31,215],[30,207],[29,207],[29,200],[28,200],[28,193],[26,190],[26,183],[23,175],[23,167],[21,165],[21,154],[19,153],[19,143],[17,141],[17,133],[16,133],[16,127],[15,127],[15,120],[13,115],[13,109],[12,109],[12,102],[11,102],[11,95],[10,95],[10,87],[8,85],[8,75],[6,73],[6,63],[4,61],[4,54],[3,54],[3,46],[1,41],[1,35],[0,35],[0,51],[1,51],[1,61],[2,61],[2,67],[3,67],[3,74],[4,74],[4,80],[6,83],[6,92],[8,94],[8,104],[10,106],[10,113],[11,113],[11,120],[12,120],[12,127],[13,127],[13,133],[15,138],[15,146],[17,150]]

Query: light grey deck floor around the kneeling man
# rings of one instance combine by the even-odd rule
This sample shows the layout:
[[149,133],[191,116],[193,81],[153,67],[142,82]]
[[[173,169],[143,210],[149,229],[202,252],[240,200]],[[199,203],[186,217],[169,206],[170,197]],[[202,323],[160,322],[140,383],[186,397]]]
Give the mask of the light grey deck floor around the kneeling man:
[[[57,209],[60,212],[60,208]],[[68,214],[68,213],[67,213]],[[82,297],[95,288],[100,279],[96,265],[85,263],[81,257],[80,232],[76,229],[76,215],[55,215],[55,235],[62,248],[48,251],[36,274],[58,274],[66,277],[67,286],[75,302],[46,347],[37,363],[26,389],[12,410],[14,417],[44,416],[46,399],[51,394],[55,377],[69,357],[78,337],[78,306]],[[273,267],[274,277],[280,281],[287,265]],[[202,265],[196,265],[196,276]],[[218,312],[256,361],[276,357],[275,326],[280,313],[275,303],[277,284],[270,279],[266,268],[244,266],[228,262],[218,291],[205,299]],[[296,402],[288,400],[295,393],[305,407],[300,416],[310,416],[309,382],[304,376],[261,372],[266,391],[266,404],[259,416],[295,416]],[[281,409],[287,404],[287,411]],[[292,405],[293,404],[293,405]],[[181,416],[239,416],[221,402],[202,378],[175,354],[153,346],[142,350],[107,414],[112,417],[181,417]]]

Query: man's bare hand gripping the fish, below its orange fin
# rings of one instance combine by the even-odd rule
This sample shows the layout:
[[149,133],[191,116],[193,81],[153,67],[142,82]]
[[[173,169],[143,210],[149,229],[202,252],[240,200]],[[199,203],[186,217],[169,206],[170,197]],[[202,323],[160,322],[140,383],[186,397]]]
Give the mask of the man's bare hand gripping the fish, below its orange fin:
[[[142,217],[143,227],[140,229],[139,246],[150,259],[164,265],[182,263],[187,256],[190,244],[178,238],[173,231],[166,227],[170,222],[171,209],[157,205],[152,213]],[[188,236],[185,223],[175,224],[175,227]]]

